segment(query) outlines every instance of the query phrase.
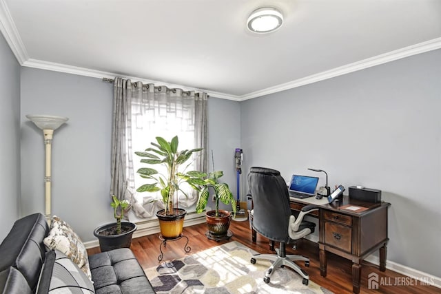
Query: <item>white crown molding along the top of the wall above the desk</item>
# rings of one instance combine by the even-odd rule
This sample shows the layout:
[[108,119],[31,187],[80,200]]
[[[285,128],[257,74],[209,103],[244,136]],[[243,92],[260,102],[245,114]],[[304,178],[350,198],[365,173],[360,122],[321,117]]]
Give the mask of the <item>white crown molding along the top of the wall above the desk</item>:
[[416,45],[411,45],[405,48],[380,54],[378,56],[373,56],[369,59],[363,59],[362,61],[357,61],[340,67],[336,67],[332,70],[327,70],[325,72],[320,72],[318,74],[312,74],[311,76],[305,76],[305,78],[299,78],[295,81],[283,83],[280,85],[276,85],[274,87],[268,87],[263,90],[245,94],[243,96],[240,96],[240,100],[244,101],[247,99],[257,98],[268,94],[274,94],[276,92],[281,92],[281,91],[293,89],[295,87],[300,87],[302,85],[308,85],[311,83],[324,81],[327,80],[328,78],[342,76],[343,74],[349,74],[351,72],[356,72],[358,70],[365,70],[366,68],[369,67],[381,65],[391,61],[396,61],[398,59],[403,59],[405,57],[413,56],[424,52],[429,52],[432,50],[437,50],[440,48],[441,48],[441,38],[432,39],[429,41],[418,43]]

